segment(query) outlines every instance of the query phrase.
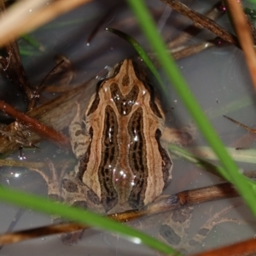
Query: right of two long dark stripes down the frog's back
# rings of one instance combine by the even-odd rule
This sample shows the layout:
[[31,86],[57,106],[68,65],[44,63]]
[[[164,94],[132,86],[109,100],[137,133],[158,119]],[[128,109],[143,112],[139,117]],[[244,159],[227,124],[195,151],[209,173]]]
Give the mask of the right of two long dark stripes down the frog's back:
[[128,124],[128,132],[131,137],[129,148],[129,165],[131,172],[135,176],[134,185],[128,198],[128,203],[132,208],[144,206],[145,193],[147,188],[148,165],[147,148],[143,134],[143,109],[137,108],[131,115]]

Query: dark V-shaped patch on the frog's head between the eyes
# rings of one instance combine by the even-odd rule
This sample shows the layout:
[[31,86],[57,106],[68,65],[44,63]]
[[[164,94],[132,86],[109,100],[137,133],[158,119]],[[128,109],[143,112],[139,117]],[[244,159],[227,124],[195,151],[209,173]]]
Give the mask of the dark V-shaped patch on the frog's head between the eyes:
[[134,103],[137,101],[137,96],[139,93],[138,86],[132,86],[130,92],[126,96],[122,95],[121,91],[119,90],[119,85],[116,83],[110,85],[110,90],[113,102],[115,103],[119,114],[128,115],[131,113],[131,109]]

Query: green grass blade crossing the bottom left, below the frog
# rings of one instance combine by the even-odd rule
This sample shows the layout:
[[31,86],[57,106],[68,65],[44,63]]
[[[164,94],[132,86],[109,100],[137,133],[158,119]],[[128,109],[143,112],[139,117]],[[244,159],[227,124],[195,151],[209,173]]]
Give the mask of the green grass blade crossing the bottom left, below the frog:
[[131,241],[143,243],[161,253],[177,253],[177,251],[172,249],[172,247],[168,247],[165,243],[145,235],[140,231],[131,229],[124,224],[119,224],[109,218],[104,218],[96,213],[84,211],[77,207],[70,207],[60,202],[49,201],[42,196],[30,195],[15,189],[0,187],[0,200],[7,201],[20,207],[31,208],[38,212],[58,215],[62,218],[67,218],[82,224],[88,224],[102,230],[118,232],[119,234],[128,237]]

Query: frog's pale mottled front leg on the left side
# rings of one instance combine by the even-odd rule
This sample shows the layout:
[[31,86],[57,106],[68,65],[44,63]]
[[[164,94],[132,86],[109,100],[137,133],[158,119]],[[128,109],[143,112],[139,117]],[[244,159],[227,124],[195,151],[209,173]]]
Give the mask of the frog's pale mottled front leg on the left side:
[[77,159],[80,159],[87,151],[90,143],[90,135],[86,134],[86,131],[82,128],[81,110],[78,102],[76,111],[77,113],[69,125],[68,130],[73,154],[75,154]]

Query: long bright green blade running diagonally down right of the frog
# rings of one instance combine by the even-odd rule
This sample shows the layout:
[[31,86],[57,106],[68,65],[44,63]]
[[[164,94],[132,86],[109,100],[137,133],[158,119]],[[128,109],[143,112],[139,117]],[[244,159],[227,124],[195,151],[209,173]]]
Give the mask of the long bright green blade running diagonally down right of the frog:
[[247,205],[250,207],[254,216],[256,216],[253,186],[248,186],[247,179],[241,175],[238,166],[236,166],[236,163],[230,158],[230,155],[224,148],[224,144],[219,139],[218,134],[214,131],[199,103],[195,100],[195,96],[193,96],[192,92],[189,90],[189,86],[183,79],[172,56],[166,54],[166,46],[156,30],[154,20],[151,15],[149,15],[145,3],[143,0],[127,0],[127,3],[129,3],[136,15],[138,23],[142,27],[145,36],[148,38],[148,43],[151,44],[152,49],[154,49],[154,52],[158,56],[160,64],[166,72],[166,77],[172,82],[178,96],[182,99],[185,107],[195,120],[196,125],[198,125],[201,130],[201,133],[206,138],[215,154],[218,155],[218,159],[224,166],[225,172],[227,172],[225,175],[224,173],[221,173],[221,175],[230,177],[230,181],[235,184],[236,189],[238,189],[238,192],[247,202]]

